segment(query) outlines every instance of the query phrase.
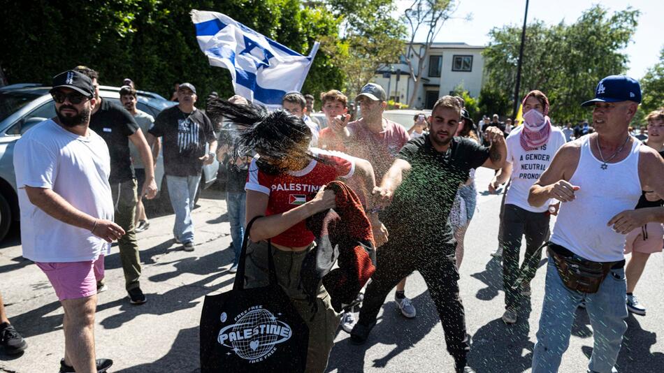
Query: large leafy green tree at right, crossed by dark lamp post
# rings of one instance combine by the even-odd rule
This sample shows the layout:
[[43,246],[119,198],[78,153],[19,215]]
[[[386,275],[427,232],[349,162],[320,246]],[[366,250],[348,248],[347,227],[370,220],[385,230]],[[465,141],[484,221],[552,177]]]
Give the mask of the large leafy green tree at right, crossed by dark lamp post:
[[[556,122],[587,117],[589,112],[579,104],[593,96],[599,80],[626,71],[628,59],[621,51],[632,38],[639,15],[631,8],[609,15],[606,8],[596,5],[569,25],[528,24],[519,96],[540,89],[551,101],[551,116]],[[512,96],[521,26],[494,28],[489,35],[491,42],[483,54],[485,85],[490,90],[484,92],[494,98],[500,97],[498,92]],[[481,106],[500,108],[499,103],[489,103],[489,98],[480,98]],[[507,110],[511,106],[510,99]]]

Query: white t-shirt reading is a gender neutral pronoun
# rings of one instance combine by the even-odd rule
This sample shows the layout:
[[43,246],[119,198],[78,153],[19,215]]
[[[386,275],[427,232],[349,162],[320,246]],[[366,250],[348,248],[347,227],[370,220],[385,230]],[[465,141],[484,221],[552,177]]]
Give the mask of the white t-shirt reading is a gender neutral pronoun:
[[510,189],[507,189],[505,205],[516,205],[531,212],[545,212],[555,200],[549,200],[540,207],[533,207],[528,204],[528,191],[549,167],[558,149],[565,144],[565,135],[557,127],[551,126],[549,141],[538,149],[526,152],[521,147],[521,131],[524,131],[524,126],[513,129],[505,140],[506,161],[512,163],[512,184]]

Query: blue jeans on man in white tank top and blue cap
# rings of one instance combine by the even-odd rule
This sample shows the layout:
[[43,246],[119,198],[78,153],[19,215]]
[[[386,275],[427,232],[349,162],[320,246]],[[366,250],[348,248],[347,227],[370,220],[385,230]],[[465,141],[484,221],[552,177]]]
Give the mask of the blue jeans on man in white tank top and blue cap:
[[584,300],[595,339],[588,370],[598,373],[617,372],[614,365],[623,334],[627,330],[626,292],[623,268],[612,269],[597,293],[570,291],[558,275],[553,259],[549,258],[532,373],[558,372],[563,353],[570,345],[576,309]]

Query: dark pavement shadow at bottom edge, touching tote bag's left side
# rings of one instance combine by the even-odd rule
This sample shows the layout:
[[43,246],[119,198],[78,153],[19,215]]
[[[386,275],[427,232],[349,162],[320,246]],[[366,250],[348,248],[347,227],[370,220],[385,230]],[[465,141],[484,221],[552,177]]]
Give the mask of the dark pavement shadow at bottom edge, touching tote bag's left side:
[[[154,360],[152,363],[136,365],[123,370],[113,370],[115,373],[163,373],[201,372],[199,363],[199,328],[182,329],[171,345],[171,351],[166,356]],[[220,371],[220,372],[223,372]]]

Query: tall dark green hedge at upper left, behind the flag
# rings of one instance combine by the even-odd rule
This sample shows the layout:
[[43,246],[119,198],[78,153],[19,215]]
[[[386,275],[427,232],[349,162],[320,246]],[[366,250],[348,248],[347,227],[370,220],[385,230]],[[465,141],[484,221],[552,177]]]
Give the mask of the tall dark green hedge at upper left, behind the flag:
[[[174,82],[196,85],[199,104],[212,91],[233,92],[231,75],[199,49],[192,9],[219,11],[296,52],[320,38],[338,41],[340,21],[299,0],[0,0],[0,66],[10,83],[50,84],[56,73],[84,64],[105,85],[132,78],[139,89],[171,96]],[[332,56],[320,51],[305,89],[343,84]]]

